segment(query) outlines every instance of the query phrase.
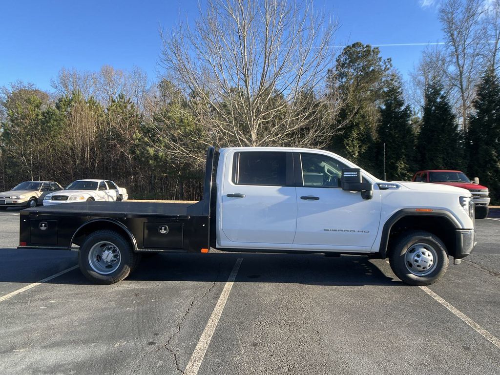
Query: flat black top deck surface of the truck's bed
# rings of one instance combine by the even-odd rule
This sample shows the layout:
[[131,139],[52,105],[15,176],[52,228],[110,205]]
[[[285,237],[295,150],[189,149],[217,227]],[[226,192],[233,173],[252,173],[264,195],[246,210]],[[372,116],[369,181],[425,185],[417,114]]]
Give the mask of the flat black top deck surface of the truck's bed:
[[[199,209],[198,209],[199,208]],[[85,215],[166,215],[189,216],[201,215],[200,202],[174,203],[174,202],[75,202],[61,203],[42,207],[23,209],[21,212],[37,212],[40,214],[85,214]]]

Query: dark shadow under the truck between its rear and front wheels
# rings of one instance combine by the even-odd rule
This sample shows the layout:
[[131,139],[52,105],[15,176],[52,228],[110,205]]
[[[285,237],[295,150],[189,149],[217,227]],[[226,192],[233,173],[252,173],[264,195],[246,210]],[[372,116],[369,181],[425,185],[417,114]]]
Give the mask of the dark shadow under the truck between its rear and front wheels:
[[405,285],[386,276],[366,256],[320,254],[227,253],[154,254],[145,256],[127,278],[142,281],[226,281],[242,258],[236,282],[309,285]]

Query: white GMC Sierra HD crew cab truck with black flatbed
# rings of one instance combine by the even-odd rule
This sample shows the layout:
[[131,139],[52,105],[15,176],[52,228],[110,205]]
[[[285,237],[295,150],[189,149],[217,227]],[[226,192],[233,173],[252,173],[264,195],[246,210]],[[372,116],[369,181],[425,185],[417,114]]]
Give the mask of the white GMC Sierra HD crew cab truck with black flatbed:
[[213,247],[388,257],[401,280],[428,285],[476,243],[468,190],[386,182],[328,151],[279,147],[209,147],[199,202],[27,208],[19,237],[18,248],[77,248],[101,284],[125,278],[141,252]]

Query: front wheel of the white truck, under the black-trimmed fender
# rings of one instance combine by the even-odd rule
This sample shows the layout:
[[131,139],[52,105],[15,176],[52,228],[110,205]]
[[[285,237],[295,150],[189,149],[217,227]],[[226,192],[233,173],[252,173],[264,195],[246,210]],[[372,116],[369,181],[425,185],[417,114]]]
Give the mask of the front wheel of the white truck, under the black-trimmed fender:
[[390,249],[392,271],[410,285],[430,285],[440,279],[448,268],[446,246],[436,235],[411,230],[396,239]]

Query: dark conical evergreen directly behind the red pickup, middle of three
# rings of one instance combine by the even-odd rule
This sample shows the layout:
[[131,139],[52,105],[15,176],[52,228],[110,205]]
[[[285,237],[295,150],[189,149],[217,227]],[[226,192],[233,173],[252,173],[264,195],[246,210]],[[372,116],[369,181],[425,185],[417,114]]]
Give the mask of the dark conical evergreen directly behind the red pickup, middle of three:
[[461,132],[439,82],[425,88],[422,112],[416,149],[419,169],[462,169]]

